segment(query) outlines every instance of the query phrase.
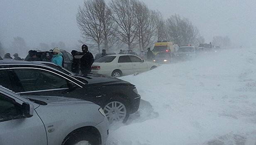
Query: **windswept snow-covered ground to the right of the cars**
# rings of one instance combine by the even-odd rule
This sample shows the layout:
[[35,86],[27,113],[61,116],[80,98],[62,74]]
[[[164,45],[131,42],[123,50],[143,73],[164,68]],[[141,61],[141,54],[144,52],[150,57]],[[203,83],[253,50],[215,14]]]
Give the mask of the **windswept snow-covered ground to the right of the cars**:
[[256,49],[229,49],[122,77],[141,106],[107,145],[256,145]]

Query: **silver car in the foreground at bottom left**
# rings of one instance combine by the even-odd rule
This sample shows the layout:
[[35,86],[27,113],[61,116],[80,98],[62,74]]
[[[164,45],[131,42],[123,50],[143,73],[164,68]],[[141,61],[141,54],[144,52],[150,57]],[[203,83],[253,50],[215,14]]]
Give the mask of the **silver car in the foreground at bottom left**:
[[108,127],[103,110],[92,102],[21,97],[0,87],[0,145],[101,145]]

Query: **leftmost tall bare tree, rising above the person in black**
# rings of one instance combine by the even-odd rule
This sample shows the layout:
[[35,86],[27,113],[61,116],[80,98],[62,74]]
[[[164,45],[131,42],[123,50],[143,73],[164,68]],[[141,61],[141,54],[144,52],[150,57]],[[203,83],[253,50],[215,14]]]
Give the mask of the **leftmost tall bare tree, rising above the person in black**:
[[100,53],[102,44],[102,21],[99,11],[99,0],[85,0],[83,7],[78,7],[76,16],[78,27],[82,33],[83,39],[97,44]]

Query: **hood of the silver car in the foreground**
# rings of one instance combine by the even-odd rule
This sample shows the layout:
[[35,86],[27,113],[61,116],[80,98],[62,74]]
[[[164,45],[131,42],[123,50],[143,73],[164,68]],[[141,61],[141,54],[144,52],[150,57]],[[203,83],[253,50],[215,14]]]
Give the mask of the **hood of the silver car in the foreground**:
[[[93,104],[93,102],[81,99],[58,97],[58,96],[22,96],[39,105],[47,104]],[[45,104],[46,103],[46,104]]]

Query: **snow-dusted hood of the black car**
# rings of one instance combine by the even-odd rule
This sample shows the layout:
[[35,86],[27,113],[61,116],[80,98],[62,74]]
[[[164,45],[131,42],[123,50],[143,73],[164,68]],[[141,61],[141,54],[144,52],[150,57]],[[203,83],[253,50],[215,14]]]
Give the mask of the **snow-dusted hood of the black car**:
[[83,80],[86,80],[88,82],[88,85],[111,85],[111,84],[126,84],[126,85],[132,85],[129,82],[126,82],[124,80],[117,79],[115,77],[110,77],[108,75],[101,75],[101,74],[87,74],[87,75],[73,75],[74,77],[79,77]]

